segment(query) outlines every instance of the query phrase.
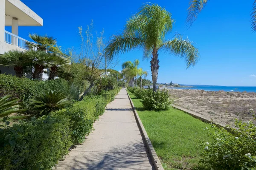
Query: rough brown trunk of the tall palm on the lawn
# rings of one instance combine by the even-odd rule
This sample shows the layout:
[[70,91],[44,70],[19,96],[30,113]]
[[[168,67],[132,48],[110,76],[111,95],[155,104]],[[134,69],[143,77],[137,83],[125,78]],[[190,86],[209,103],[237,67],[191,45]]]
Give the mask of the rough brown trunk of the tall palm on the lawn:
[[150,61],[151,64],[151,74],[152,74],[152,82],[153,82],[153,91],[157,91],[157,76],[158,76],[158,69],[159,69],[159,60],[157,50],[153,50],[152,52],[153,57]]

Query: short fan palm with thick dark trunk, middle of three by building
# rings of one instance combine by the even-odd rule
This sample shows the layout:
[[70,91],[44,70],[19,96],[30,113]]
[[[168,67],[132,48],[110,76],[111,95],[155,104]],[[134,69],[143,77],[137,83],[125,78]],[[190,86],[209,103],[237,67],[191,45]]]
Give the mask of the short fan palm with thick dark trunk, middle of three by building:
[[42,80],[44,69],[49,68],[54,60],[52,55],[41,50],[29,50],[26,51],[26,55],[32,59],[32,65],[35,69],[32,74],[32,79]]

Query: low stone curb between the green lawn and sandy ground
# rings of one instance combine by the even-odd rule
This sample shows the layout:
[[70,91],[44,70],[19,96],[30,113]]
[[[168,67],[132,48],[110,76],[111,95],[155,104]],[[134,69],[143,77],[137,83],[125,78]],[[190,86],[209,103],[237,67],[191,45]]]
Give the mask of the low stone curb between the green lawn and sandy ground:
[[199,114],[199,113],[195,113],[193,111],[189,111],[188,109],[182,108],[180,106],[176,106],[176,105],[172,105],[173,108],[183,111],[193,117],[195,117],[196,119],[200,119],[203,122],[207,122],[207,123],[213,123],[214,125],[218,126],[218,127],[224,127],[227,131],[231,132],[231,129],[226,127],[226,125],[222,124],[222,123],[216,123],[216,122],[212,122],[210,119],[208,119],[207,117]]

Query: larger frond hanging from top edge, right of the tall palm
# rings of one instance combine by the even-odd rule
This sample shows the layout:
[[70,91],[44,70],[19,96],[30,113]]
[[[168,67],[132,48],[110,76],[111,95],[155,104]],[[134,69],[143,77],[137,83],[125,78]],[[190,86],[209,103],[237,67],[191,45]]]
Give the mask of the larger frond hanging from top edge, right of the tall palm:
[[192,23],[198,17],[198,14],[206,6],[208,0],[190,0],[189,8],[187,9],[188,14],[186,18],[187,26],[192,26]]

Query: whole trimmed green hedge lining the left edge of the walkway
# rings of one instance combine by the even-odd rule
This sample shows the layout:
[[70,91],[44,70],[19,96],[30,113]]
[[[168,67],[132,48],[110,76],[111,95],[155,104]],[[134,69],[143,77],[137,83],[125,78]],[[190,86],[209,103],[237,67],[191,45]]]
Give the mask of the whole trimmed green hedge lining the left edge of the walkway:
[[72,144],[84,141],[106,104],[104,96],[87,96],[71,108],[0,128],[0,169],[51,170]]

